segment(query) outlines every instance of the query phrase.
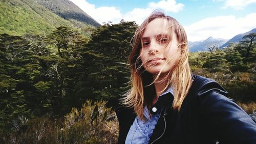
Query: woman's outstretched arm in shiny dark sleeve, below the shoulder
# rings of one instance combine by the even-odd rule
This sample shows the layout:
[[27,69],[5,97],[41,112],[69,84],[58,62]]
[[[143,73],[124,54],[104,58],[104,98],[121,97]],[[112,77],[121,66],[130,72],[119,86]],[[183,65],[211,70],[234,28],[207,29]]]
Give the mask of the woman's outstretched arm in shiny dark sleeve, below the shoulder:
[[216,91],[204,95],[201,112],[220,143],[256,143],[256,124],[240,106]]

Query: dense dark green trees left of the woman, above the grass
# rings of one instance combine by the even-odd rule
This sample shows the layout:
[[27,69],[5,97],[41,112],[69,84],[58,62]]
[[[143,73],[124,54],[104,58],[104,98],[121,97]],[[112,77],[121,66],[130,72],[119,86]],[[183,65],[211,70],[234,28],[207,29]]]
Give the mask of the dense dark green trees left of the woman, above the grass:
[[61,117],[88,99],[117,106],[130,76],[120,62],[126,62],[136,27],[106,24],[91,39],[66,26],[48,35],[0,35],[0,134],[14,130],[8,120]]

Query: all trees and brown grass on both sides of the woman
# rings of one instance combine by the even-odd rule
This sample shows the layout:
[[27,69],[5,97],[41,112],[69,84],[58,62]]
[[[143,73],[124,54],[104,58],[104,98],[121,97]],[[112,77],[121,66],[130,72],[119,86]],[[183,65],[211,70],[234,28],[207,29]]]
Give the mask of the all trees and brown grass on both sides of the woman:
[[[125,63],[136,27],[121,21],[84,29],[91,37],[68,26],[44,35],[1,34],[0,142],[115,143],[118,124],[110,107],[129,89]],[[255,55],[250,34],[238,45],[190,53],[189,63],[251,113]]]

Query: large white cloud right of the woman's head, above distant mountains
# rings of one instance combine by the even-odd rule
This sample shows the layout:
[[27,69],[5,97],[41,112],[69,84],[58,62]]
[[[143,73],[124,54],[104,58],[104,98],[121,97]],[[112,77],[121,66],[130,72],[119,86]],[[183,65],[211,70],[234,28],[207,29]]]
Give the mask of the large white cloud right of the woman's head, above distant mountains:
[[245,17],[218,16],[202,19],[193,24],[184,26],[189,41],[207,39],[209,36],[231,39],[233,36],[248,32],[255,28],[256,13]]

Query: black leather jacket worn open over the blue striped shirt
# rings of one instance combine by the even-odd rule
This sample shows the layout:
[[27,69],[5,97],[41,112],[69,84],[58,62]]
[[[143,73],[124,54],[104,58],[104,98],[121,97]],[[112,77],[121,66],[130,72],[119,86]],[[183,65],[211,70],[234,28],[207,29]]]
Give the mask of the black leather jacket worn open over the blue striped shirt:
[[[256,124],[214,80],[194,75],[180,112],[173,96],[161,96],[152,107],[163,106],[149,143],[256,143]],[[118,143],[124,143],[136,114],[133,108],[116,109]],[[217,142],[218,141],[218,142]]]

